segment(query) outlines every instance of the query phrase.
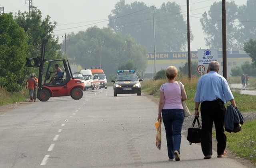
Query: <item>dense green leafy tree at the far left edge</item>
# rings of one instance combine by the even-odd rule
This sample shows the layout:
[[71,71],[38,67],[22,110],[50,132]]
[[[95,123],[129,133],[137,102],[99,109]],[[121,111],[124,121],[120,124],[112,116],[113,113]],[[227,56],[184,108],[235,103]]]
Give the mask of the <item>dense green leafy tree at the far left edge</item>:
[[[8,92],[22,89],[27,36],[11,13],[0,15],[0,87]],[[18,82],[17,82],[18,81]]]

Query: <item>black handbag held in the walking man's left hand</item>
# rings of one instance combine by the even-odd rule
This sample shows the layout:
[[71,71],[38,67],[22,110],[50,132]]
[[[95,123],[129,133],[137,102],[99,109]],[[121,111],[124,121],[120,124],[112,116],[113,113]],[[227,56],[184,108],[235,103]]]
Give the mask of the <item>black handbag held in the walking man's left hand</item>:
[[[196,121],[198,124],[198,128],[194,128]],[[192,128],[188,128],[187,140],[189,141],[190,145],[192,143],[201,143],[201,131],[201,125],[198,117],[196,116],[192,123]]]

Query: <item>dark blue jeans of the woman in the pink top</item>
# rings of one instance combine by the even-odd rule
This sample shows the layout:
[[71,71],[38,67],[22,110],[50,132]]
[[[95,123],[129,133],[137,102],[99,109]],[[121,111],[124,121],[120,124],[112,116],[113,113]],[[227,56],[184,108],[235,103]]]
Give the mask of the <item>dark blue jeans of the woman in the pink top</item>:
[[181,130],[184,121],[183,109],[162,109],[166,132],[168,156],[174,158],[174,151],[180,152]]

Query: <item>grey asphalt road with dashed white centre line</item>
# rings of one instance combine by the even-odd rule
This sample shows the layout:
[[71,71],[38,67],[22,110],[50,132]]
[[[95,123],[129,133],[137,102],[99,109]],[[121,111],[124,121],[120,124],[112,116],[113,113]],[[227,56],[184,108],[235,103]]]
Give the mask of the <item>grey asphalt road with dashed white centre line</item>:
[[[0,168],[246,168],[228,157],[204,160],[198,144],[182,135],[179,162],[155,146],[158,104],[142,93],[86,90],[31,102],[0,115]],[[163,126],[164,127],[164,126]]]

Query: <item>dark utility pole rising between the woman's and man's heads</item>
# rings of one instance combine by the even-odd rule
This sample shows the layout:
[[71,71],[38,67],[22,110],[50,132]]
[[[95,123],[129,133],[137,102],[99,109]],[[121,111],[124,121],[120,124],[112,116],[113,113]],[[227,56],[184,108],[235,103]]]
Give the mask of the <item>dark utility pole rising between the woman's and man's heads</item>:
[[187,26],[188,26],[188,78],[191,78],[191,51],[190,51],[190,23],[189,23],[189,0],[187,0]]

